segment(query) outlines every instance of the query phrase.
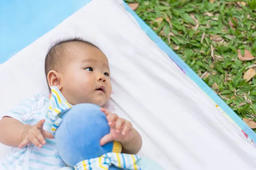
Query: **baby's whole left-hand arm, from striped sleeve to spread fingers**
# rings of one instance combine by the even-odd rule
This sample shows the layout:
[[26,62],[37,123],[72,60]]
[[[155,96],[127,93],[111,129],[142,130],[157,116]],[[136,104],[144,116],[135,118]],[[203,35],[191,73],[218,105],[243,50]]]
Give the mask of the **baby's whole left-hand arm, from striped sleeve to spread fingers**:
[[41,147],[46,141],[44,138],[53,138],[52,134],[43,130],[44,120],[36,125],[26,125],[24,120],[32,115],[33,105],[37,105],[37,99],[41,96],[34,96],[24,100],[8,111],[0,119],[0,143],[12,147],[24,147],[27,144],[35,144]]

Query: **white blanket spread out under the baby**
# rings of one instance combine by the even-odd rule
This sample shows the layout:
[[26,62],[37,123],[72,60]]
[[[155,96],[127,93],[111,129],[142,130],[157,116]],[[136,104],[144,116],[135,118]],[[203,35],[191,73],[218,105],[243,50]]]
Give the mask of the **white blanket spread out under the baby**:
[[[256,149],[201,89],[110,0],[93,0],[0,65],[0,114],[34,94],[48,94],[44,57],[55,40],[82,37],[110,62],[107,108],[143,136],[139,153],[166,170],[252,170]],[[0,159],[7,147],[0,147]]]

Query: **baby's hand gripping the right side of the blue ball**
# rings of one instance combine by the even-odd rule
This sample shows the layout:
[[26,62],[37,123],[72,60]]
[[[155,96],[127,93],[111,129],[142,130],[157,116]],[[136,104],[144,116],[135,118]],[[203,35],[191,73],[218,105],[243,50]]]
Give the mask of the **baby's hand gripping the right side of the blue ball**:
[[119,118],[115,113],[111,113],[105,108],[100,109],[107,116],[108,125],[110,126],[110,133],[103,136],[100,140],[100,144],[104,144],[117,141],[117,142],[129,142],[134,137],[133,127],[131,122],[125,119]]

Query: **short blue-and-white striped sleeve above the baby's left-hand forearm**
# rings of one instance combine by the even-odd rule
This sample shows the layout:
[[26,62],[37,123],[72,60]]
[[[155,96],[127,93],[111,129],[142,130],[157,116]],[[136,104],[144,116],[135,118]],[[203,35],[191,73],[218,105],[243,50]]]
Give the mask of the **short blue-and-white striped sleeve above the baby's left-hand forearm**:
[[35,100],[33,98],[26,99],[4,114],[3,117],[9,116],[24,124],[24,121],[32,114],[32,105],[34,102]]

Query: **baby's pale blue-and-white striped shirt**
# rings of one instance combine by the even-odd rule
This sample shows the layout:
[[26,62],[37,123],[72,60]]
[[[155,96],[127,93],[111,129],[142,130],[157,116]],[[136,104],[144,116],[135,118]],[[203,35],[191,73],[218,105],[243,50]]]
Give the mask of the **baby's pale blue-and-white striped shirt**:
[[[44,130],[51,132],[52,124],[47,116],[49,97],[43,94],[26,99],[4,116],[10,116],[26,125],[36,125],[46,119]],[[46,139],[42,148],[34,144],[23,148],[13,147],[5,159],[0,160],[0,170],[58,170],[65,167],[58,154],[55,139]]]

